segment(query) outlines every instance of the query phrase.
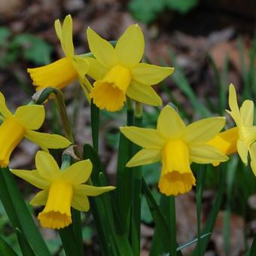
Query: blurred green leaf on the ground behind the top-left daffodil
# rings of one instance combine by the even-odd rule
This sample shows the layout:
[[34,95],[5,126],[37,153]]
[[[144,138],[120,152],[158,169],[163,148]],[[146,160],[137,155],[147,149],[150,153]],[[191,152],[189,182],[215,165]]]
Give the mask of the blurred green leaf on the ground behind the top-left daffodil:
[[50,53],[53,48],[42,38],[24,33],[15,36],[12,44],[17,47],[22,47],[24,58],[35,62],[36,65],[46,65],[50,63]]

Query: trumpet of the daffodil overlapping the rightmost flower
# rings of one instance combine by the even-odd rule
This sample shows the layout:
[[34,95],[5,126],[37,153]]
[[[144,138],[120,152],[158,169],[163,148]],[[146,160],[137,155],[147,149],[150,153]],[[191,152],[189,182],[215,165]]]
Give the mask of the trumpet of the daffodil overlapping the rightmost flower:
[[181,139],[172,139],[163,147],[163,168],[158,187],[167,196],[188,192],[196,179],[190,169],[189,150]]

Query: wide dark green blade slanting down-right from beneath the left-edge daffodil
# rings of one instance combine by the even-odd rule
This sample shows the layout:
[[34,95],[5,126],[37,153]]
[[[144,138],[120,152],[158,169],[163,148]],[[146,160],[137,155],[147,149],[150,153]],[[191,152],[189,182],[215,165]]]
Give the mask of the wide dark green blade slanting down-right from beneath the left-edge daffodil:
[[[13,206],[12,210],[16,214],[15,219],[19,222],[18,225],[15,225],[15,228],[18,227],[24,236],[26,236],[26,239],[30,242],[31,247],[37,256],[50,256],[50,251],[48,250],[38,227],[36,227],[29,209],[23,200],[22,194],[14,181],[14,175],[12,175],[8,168],[0,169],[0,172],[0,184],[5,184],[5,193],[9,194]],[[2,201],[2,203],[6,206],[5,201]],[[5,210],[8,212],[10,209],[11,205]]]

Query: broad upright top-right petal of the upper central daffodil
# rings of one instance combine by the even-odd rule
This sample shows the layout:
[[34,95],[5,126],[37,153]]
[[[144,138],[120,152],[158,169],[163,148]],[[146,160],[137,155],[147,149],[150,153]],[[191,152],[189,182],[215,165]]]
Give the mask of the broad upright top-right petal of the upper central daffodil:
[[144,54],[145,41],[142,29],[138,24],[129,26],[117,41],[115,47],[121,66],[132,68],[136,66]]

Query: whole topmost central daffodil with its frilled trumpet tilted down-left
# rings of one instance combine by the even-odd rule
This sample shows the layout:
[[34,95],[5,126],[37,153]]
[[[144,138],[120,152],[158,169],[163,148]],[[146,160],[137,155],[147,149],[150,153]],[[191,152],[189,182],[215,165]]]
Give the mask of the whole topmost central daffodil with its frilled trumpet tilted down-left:
[[90,97],[101,109],[117,111],[123,107],[126,96],[148,105],[162,105],[162,100],[151,85],[171,75],[173,68],[139,63],[144,54],[145,41],[142,29],[131,25],[113,47],[92,29],[87,39],[94,58],[87,58],[87,72],[96,80]]

